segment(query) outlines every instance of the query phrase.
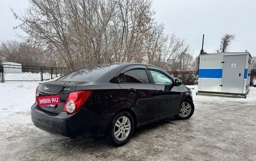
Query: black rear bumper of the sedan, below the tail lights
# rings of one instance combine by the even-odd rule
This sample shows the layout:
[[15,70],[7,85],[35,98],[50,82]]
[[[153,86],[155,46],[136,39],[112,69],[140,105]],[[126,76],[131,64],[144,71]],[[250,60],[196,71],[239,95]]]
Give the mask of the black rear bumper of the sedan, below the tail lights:
[[103,136],[109,122],[100,117],[93,118],[92,115],[86,117],[83,113],[78,111],[74,114],[67,114],[66,112],[51,114],[42,111],[36,104],[31,107],[31,119],[34,125],[51,134],[68,138],[81,135],[89,137]]

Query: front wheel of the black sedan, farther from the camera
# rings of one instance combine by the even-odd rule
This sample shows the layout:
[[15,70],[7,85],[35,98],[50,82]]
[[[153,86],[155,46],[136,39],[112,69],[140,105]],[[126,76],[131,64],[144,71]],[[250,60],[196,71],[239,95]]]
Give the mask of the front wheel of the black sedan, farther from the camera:
[[190,99],[185,99],[180,105],[180,112],[175,117],[178,119],[189,119],[194,113],[195,107]]

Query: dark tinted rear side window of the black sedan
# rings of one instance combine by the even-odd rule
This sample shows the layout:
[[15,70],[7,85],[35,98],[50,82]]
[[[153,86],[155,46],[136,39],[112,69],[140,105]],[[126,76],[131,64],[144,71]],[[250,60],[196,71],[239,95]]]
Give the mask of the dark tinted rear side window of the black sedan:
[[118,80],[122,82],[131,82],[131,83],[149,83],[148,75],[144,69],[135,69],[130,70],[125,73],[122,73]]

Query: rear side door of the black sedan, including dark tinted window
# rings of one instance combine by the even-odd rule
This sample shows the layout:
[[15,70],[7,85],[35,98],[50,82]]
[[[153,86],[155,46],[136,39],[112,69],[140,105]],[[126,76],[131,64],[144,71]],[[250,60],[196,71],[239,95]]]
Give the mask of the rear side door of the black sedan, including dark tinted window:
[[135,108],[140,123],[156,119],[157,98],[154,98],[154,85],[149,84],[146,67],[129,66],[118,76],[123,99]]

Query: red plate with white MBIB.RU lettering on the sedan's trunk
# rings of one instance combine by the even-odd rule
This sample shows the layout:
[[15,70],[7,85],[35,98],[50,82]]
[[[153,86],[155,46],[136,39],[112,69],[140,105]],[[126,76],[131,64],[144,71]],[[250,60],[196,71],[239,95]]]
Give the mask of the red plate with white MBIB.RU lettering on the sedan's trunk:
[[46,95],[36,97],[39,106],[61,104],[60,96],[57,95]]

